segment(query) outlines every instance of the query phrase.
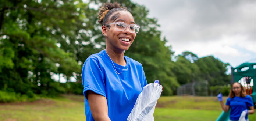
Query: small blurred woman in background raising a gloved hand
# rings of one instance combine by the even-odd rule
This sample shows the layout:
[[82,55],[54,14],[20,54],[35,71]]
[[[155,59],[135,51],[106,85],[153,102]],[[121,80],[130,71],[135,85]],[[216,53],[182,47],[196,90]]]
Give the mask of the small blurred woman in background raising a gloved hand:
[[[246,94],[245,88],[238,82],[232,84],[226,105],[222,101],[222,94],[218,94],[217,97],[224,112],[231,108],[230,121],[238,121],[244,110],[248,111],[248,114],[254,113],[252,97]],[[245,119],[249,121],[247,115]]]

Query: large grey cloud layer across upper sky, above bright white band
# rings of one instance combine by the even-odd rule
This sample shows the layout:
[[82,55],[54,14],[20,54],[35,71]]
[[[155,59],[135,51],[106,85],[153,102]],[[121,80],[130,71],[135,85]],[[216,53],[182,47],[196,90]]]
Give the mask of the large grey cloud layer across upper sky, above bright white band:
[[169,41],[211,41],[243,34],[255,41],[254,0],[157,0],[144,4]]

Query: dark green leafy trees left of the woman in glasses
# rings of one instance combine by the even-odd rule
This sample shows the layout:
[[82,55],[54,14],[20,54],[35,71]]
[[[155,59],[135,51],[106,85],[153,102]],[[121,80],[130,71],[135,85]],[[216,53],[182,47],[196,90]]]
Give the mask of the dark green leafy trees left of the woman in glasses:
[[50,72],[63,73],[68,79],[81,71],[75,55],[77,42],[71,37],[86,30],[81,26],[86,19],[82,8],[88,4],[81,0],[0,3],[0,89],[21,94],[63,92]]

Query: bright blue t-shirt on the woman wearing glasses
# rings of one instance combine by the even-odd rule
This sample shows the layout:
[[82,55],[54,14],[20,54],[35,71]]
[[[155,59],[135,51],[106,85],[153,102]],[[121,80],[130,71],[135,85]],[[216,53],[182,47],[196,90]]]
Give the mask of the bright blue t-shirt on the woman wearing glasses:
[[[125,67],[114,61],[113,65],[106,51],[102,50],[88,57],[82,68],[83,94],[86,97],[86,91],[92,90],[106,97],[111,121],[126,121],[142,88],[147,85],[142,65],[127,56],[124,58]],[[85,114],[86,121],[94,121],[87,98]]]

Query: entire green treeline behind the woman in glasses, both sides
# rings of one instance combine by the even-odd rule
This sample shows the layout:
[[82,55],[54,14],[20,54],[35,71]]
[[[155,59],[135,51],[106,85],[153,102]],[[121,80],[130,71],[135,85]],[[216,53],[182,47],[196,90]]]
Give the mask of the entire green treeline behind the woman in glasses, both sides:
[[[183,52],[171,61],[174,52],[165,46],[159,24],[148,18],[143,5],[115,0],[127,7],[141,30],[125,55],[143,65],[148,83],[160,80],[163,95],[174,95],[180,84],[209,80],[226,84],[228,64],[213,56],[198,58]],[[106,44],[97,22],[97,8],[105,0],[0,0],[0,90],[29,98],[59,93],[82,94],[81,68],[91,54]],[[114,0],[110,0],[114,2]],[[77,84],[59,83],[53,75],[76,77]],[[76,89],[74,89],[76,88]],[[78,90],[78,89],[80,90]],[[22,98],[23,99],[23,98]]]

